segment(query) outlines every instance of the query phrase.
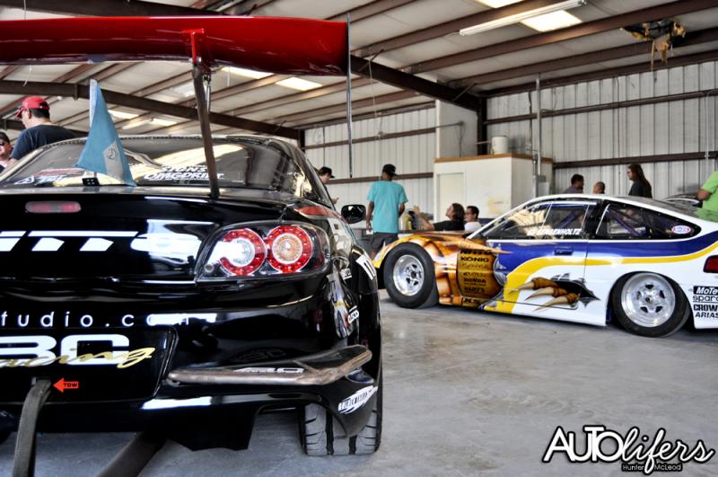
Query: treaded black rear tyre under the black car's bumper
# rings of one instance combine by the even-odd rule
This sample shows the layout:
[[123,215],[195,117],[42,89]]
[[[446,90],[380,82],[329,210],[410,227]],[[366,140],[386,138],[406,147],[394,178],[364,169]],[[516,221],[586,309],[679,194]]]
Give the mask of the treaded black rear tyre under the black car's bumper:
[[[380,372],[381,374],[381,372]],[[372,416],[353,437],[346,437],[341,425],[319,404],[307,404],[300,410],[299,434],[307,455],[373,454],[381,444],[381,377],[372,408]]]

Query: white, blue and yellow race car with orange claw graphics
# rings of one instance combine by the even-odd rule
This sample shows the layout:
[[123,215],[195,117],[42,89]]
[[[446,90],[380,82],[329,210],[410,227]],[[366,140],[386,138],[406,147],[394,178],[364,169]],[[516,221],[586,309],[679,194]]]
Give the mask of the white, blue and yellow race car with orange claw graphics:
[[473,234],[418,233],[374,266],[391,299],[606,325],[718,328],[718,216],[659,200],[557,195]]

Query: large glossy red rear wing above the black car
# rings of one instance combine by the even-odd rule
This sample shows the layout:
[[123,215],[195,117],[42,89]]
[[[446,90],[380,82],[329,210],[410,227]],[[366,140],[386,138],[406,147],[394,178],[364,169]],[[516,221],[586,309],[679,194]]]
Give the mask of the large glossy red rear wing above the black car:
[[345,22],[241,16],[100,17],[0,22],[0,64],[186,60],[206,66],[344,75]]

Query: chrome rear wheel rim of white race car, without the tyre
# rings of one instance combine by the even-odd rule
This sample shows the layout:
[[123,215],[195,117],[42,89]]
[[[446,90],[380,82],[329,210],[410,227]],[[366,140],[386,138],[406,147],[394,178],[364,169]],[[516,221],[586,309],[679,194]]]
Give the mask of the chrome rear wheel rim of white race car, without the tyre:
[[621,306],[631,322],[655,328],[673,315],[676,294],[666,278],[654,273],[638,273],[623,286]]

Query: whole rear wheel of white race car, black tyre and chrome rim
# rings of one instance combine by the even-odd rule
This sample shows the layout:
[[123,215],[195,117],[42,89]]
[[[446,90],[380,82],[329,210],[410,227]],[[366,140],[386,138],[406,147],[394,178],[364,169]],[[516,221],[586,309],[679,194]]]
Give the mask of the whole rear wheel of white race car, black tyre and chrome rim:
[[611,305],[626,330],[649,338],[679,331],[690,315],[680,288],[656,273],[635,273],[618,280]]

